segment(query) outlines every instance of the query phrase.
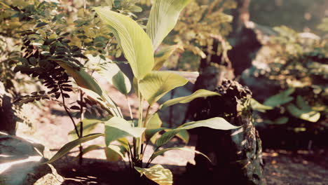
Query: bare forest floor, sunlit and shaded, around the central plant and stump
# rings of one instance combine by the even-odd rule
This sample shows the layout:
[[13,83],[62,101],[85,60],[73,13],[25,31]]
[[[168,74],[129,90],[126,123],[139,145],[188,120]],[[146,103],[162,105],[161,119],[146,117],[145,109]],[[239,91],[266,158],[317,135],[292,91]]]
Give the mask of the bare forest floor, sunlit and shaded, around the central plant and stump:
[[[112,90],[111,92],[113,92]],[[116,95],[117,94],[117,95]],[[128,109],[124,108],[125,97],[116,93],[118,105],[123,106],[123,114],[128,115]],[[137,100],[134,96],[130,97],[132,109],[135,110]],[[36,120],[33,128],[18,129],[18,136],[29,137],[37,140],[48,150],[45,156],[50,157],[55,154],[64,144],[69,142],[68,132],[74,127],[69,117],[64,113],[64,109],[57,106],[55,102],[47,102],[42,109],[34,111]],[[102,132],[101,127],[96,128],[95,132]],[[103,144],[103,138],[97,138],[88,142],[90,144]],[[193,137],[187,147],[194,149]],[[179,139],[175,139],[170,146],[184,145]],[[149,158],[153,151],[152,147],[147,147],[145,158]],[[97,150],[86,153],[83,165],[78,165],[75,157],[78,149],[74,149],[69,155],[57,160],[53,165],[57,172],[61,174],[65,181],[62,184],[129,184],[125,162],[107,162],[104,151]],[[175,177],[175,184],[180,183],[186,170],[185,165],[193,163],[193,153],[187,151],[168,151],[165,156],[158,156],[153,163],[161,164],[172,170]],[[265,177],[268,185],[324,185],[328,184],[328,149],[313,151],[285,151],[285,150],[266,150],[263,153],[265,162]],[[230,184],[229,184],[230,185]],[[233,185],[233,184],[231,184]]]

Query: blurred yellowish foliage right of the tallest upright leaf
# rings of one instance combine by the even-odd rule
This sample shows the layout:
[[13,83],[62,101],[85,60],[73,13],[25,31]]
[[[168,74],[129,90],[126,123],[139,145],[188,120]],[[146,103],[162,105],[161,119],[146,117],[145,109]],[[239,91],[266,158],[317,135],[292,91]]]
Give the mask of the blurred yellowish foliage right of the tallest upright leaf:
[[[150,5],[150,1],[140,3]],[[231,32],[233,20],[228,14],[233,8],[236,8],[235,0],[192,0],[182,11],[175,28],[156,50],[156,54],[160,54],[161,50],[175,48],[168,62],[163,61],[163,66],[197,71],[201,59],[210,55],[226,57],[227,51],[231,49],[226,37]],[[175,47],[170,46],[172,44]]]

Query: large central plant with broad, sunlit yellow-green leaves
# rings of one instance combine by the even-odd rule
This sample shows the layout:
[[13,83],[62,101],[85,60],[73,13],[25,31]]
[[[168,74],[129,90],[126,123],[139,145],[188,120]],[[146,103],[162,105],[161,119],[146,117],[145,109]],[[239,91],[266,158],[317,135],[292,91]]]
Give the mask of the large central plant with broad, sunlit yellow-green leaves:
[[[165,36],[175,27],[179,13],[190,0],[157,0],[154,2],[149,15],[149,21],[146,25],[146,32],[140,25],[126,15],[111,11],[107,7],[95,7],[95,13],[102,20],[102,24],[109,27],[111,33],[114,34],[118,45],[128,60],[132,69],[134,79],[133,87],[139,99],[139,112],[137,120],[132,116],[129,119],[123,118],[121,109],[109,97],[101,86],[86,71],[74,62],[69,60],[55,60],[67,74],[72,76],[78,86],[86,93],[86,95],[97,101],[101,107],[109,113],[109,117],[105,120],[83,120],[86,123],[78,126],[88,130],[95,125],[103,123],[104,133],[92,133],[83,137],[78,137],[72,142],[65,144],[55,156],[50,158],[47,163],[52,163],[68,151],[83,142],[90,141],[97,137],[104,136],[104,151],[108,160],[118,160],[127,153],[130,167],[137,170],[141,175],[155,181],[157,184],[172,184],[172,173],[164,169],[161,165],[151,165],[151,161],[157,156],[162,155],[170,150],[186,150],[186,148],[167,148],[162,147],[167,144],[170,139],[179,136],[187,140],[186,130],[199,127],[207,127],[219,130],[230,130],[236,128],[223,118],[210,118],[204,121],[195,121],[184,123],[178,128],[161,127],[160,118],[156,112],[151,112],[151,107],[170,90],[185,85],[187,80],[179,74],[170,71],[158,71],[154,69],[158,65],[158,60],[154,57],[154,50],[158,48]],[[116,88],[127,95],[130,93],[131,84],[122,71],[118,71],[111,78]],[[198,90],[190,96],[179,97],[163,103],[159,109],[172,106],[178,103],[188,103],[197,97],[210,97],[219,95],[208,90]],[[144,100],[148,103],[148,108],[144,114]],[[91,130],[91,129],[90,129]],[[158,132],[165,131],[163,135],[157,137]],[[128,139],[132,137],[132,142]],[[156,149],[151,157],[146,160],[144,151],[150,141],[156,145]],[[83,153],[97,149],[99,146],[89,146]],[[199,153],[196,151],[196,153]],[[202,153],[200,153],[202,154]],[[146,162],[147,161],[147,162]],[[146,162],[144,164],[143,162]]]

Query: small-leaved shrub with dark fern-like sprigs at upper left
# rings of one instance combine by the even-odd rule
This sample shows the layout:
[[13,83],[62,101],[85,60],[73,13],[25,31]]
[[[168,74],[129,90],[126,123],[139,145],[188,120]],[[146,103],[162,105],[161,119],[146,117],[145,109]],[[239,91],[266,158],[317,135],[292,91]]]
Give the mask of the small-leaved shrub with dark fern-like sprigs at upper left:
[[[108,1],[104,5],[119,9],[130,16],[133,15],[132,11],[138,11],[132,1]],[[78,67],[85,63],[84,66],[88,67],[89,63],[93,63],[89,62],[93,57],[99,57],[103,61],[106,60],[104,55],[121,55],[109,29],[101,27],[94,12],[81,7],[83,4],[75,4],[74,7],[69,1],[62,1],[61,4],[24,0],[0,2],[1,82],[4,83],[6,90],[13,92],[18,107],[39,100],[57,102],[71,118],[75,135],[78,137],[83,136],[81,120],[84,115],[90,117],[90,113],[93,113],[92,118],[106,117],[107,114],[96,102],[83,97],[83,92],[69,81],[69,76],[55,61],[70,61],[71,65]],[[74,8],[78,10],[69,11]],[[77,20],[71,20],[76,17]],[[107,60],[101,63],[99,61],[99,64],[93,64],[93,71],[107,64]],[[46,88],[43,89],[41,84]],[[23,91],[22,87],[26,85],[35,92]],[[20,91],[15,90],[15,87],[19,87]],[[22,95],[26,93],[29,95]],[[69,103],[69,107],[67,101],[72,93],[80,95],[76,101]],[[77,124],[74,116],[81,119]],[[82,149],[80,146],[80,156]]]

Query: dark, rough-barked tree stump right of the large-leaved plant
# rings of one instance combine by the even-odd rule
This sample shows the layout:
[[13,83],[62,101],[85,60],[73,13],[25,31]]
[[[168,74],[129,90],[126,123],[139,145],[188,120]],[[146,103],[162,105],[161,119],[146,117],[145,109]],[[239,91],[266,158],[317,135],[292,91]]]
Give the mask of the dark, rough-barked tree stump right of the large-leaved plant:
[[[200,85],[197,88],[205,87]],[[191,102],[187,115],[189,120],[223,117],[240,128],[227,131],[210,128],[193,130],[198,138],[196,150],[209,156],[212,163],[197,155],[196,165],[189,164],[187,168],[191,184],[266,184],[261,139],[252,122],[251,91],[230,80],[221,81],[214,91],[221,96],[198,98]]]

